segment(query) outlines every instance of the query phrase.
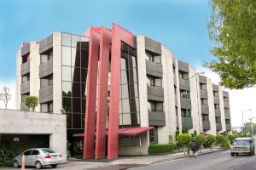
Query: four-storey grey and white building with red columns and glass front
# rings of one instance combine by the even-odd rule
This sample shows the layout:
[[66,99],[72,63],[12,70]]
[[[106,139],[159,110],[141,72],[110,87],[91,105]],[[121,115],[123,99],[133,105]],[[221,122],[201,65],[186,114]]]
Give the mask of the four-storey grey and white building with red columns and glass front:
[[72,156],[148,155],[149,144],[166,144],[187,128],[231,131],[227,92],[160,42],[116,24],[23,43],[16,75],[17,109],[36,95],[36,111],[65,110]]

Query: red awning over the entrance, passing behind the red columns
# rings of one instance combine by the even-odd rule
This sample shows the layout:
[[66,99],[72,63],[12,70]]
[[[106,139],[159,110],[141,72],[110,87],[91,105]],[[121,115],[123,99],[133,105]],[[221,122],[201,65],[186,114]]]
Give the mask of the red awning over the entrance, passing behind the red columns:
[[[127,127],[127,128],[119,128],[119,135],[127,135],[127,136],[136,136],[137,134],[145,133],[148,130],[153,129],[154,127]],[[108,131],[106,133],[108,135]],[[73,137],[83,137],[84,133],[73,134]]]

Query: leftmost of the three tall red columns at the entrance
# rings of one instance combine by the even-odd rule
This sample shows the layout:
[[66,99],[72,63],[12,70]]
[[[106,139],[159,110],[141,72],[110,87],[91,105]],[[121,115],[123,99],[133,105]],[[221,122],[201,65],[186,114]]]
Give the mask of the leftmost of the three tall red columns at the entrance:
[[84,152],[83,158],[94,158],[94,139],[96,123],[96,82],[97,64],[99,54],[99,35],[96,31],[90,30],[89,60],[86,89],[86,110],[84,122]]

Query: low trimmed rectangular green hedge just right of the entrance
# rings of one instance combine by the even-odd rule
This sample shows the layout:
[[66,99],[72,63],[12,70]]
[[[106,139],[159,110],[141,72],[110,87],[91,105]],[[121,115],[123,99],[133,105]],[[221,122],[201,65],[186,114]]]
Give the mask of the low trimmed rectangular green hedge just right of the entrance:
[[176,144],[150,144],[148,154],[160,154],[172,152],[176,148]]

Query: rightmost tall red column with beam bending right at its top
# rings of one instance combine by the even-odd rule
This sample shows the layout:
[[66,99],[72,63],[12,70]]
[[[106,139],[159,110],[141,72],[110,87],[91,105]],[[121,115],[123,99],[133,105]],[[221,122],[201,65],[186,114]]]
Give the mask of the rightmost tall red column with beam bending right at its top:
[[111,77],[108,123],[108,159],[116,159],[119,149],[119,75],[121,41],[133,46],[133,36],[116,24],[112,26]]

